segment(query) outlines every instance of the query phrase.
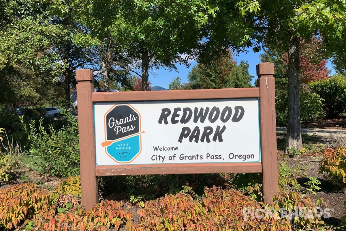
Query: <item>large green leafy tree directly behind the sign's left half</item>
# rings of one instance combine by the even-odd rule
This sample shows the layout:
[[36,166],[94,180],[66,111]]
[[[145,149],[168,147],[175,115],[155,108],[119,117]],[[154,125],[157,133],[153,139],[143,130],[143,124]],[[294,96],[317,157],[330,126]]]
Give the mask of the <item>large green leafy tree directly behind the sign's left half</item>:
[[[113,58],[127,56],[120,65],[142,78],[148,90],[149,68],[175,69],[175,63],[188,65],[179,54],[190,54],[205,33],[204,25],[217,8],[207,0],[193,1],[73,1],[74,20],[88,28],[93,39],[111,37],[117,52]],[[61,10],[67,10],[68,5]],[[138,67],[137,72],[133,67]]]

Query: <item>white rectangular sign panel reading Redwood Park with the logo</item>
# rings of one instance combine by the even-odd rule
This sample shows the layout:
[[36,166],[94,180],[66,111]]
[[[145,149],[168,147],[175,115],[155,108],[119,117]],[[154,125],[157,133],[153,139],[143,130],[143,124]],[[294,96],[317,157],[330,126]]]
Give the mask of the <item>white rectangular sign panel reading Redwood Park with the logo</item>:
[[257,98],[95,103],[94,112],[97,165],[261,161]]

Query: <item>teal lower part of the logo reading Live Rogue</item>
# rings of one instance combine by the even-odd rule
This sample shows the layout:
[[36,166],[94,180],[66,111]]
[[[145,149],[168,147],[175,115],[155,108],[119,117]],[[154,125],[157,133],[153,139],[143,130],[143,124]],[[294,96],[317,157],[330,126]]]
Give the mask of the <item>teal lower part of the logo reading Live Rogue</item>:
[[117,162],[129,162],[140,152],[139,135],[114,142],[107,147],[107,153]]

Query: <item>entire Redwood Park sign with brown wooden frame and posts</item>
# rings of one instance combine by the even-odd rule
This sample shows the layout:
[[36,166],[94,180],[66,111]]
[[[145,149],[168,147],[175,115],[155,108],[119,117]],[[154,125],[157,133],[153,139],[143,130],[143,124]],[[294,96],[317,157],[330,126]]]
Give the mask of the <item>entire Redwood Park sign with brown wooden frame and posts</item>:
[[82,205],[98,202],[96,176],[262,172],[264,201],[277,192],[273,63],[258,87],[93,92],[76,71]]

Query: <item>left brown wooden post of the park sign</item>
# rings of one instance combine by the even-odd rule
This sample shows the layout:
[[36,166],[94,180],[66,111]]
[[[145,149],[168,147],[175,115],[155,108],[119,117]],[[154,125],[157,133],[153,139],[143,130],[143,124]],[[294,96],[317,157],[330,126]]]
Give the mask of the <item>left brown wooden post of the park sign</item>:
[[99,202],[98,182],[95,175],[95,128],[92,92],[93,71],[76,70],[78,100],[78,130],[81,167],[82,206],[89,210]]

